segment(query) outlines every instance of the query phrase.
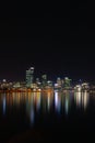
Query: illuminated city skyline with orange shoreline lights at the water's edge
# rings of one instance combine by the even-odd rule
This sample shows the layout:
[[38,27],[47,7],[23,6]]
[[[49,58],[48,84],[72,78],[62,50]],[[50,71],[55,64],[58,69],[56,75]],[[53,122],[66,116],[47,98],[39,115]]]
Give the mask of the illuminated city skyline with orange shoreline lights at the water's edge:
[[90,84],[84,81],[76,85],[72,84],[72,79],[69,77],[60,78],[57,77],[56,81],[48,79],[46,74],[41,75],[41,77],[35,78],[35,68],[29,67],[26,70],[25,80],[24,81],[8,81],[3,79],[0,82],[0,92],[32,92],[32,91],[90,91]]

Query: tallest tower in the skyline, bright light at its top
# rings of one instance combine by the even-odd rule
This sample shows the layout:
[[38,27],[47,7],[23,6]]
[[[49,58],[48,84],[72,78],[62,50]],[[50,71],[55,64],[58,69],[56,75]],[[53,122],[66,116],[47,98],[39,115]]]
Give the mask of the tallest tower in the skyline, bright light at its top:
[[32,87],[34,80],[34,67],[26,70],[26,87]]

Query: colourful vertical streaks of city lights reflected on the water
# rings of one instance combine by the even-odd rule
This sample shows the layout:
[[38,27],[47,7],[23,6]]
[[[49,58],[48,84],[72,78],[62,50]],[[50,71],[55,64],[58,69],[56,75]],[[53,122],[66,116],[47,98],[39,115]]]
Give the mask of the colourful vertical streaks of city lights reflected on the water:
[[26,116],[29,118],[31,124],[33,124],[37,113],[47,114],[54,109],[52,111],[57,114],[68,116],[73,105],[86,111],[88,101],[90,94],[87,91],[1,94],[0,110],[2,110],[2,114],[5,116],[9,108],[13,110],[13,107],[15,107],[19,110],[23,105]]

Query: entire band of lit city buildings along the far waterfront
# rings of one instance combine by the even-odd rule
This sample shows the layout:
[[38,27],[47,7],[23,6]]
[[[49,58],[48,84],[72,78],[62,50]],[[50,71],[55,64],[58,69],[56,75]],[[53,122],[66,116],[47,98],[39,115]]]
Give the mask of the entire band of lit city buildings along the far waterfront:
[[47,75],[41,75],[41,79],[34,79],[34,67],[31,67],[26,70],[26,80],[25,81],[16,81],[16,82],[8,82],[5,79],[0,82],[0,89],[33,89],[33,90],[41,90],[41,89],[74,89],[81,91],[82,89],[88,89],[88,84],[83,82],[81,85],[72,86],[72,80],[68,77],[61,79],[57,78],[56,82],[48,80]]

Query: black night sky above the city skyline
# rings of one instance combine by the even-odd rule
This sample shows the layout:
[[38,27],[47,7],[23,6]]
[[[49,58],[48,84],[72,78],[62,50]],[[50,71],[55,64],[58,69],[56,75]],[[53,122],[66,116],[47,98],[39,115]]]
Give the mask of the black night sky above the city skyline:
[[[52,12],[5,15],[0,20],[0,80],[35,76],[69,76],[95,80],[95,25],[88,3],[69,3]],[[26,9],[28,10],[28,9]]]

